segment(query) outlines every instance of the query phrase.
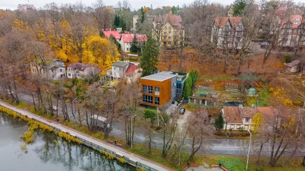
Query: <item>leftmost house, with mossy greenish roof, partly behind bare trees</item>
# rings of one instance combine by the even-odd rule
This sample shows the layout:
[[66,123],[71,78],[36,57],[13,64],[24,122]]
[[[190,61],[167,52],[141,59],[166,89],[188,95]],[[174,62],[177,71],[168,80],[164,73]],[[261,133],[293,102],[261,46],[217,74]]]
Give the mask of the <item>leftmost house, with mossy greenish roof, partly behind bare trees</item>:
[[50,79],[59,80],[66,77],[65,63],[51,58],[34,58],[30,63],[32,74],[45,74]]

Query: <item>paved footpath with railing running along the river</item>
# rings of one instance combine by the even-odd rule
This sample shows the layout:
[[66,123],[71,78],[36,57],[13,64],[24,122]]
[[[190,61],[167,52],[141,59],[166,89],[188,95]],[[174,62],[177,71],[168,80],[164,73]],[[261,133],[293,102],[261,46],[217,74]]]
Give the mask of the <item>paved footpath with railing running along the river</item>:
[[[10,104],[2,102],[2,101],[0,101],[0,105],[3,106],[3,107],[9,108],[11,110],[14,110],[17,113],[21,113],[22,115],[27,115],[28,117],[32,117],[34,120],[38,120],[38,121],[40,121],[44,124],[47,124],[47,125],[53,127],[53,129],[56,128],[56,129],[59,129],[59,130],[62,130],[62,131],[66,131],[69,134],[75,135],[78,139],[85,140],[86,141],[85,144],[90,143],[89,145],[93,145],[93,146],[96,145],[97,148],[110,150],[114,155],[116,153],[124,155],[125,159],[127,158],[129,161],[136,161],[137,162],[136,166],[138,166],[138,167],[144,167],[147,170],[152,170],[152,171],[167,171],[167,170],[173,171],[173,169],[167,168],[163,165],[160,165],[159,163],[156,163],[156,162],[153,162],[151,160],[145,159],[145,158],[143,158],[141,156],[138,156],[138,155],[134,155],[131,152],[128,152],[127,150],[119,148],[115,145],[106,143],[106,142],[104,142],[100,139],[91,137],[87,134],[76,131],[76,130],[74,130],[70,127],[67,127],[65,125],[61,125],[54,120],[48,120],[48,119],[40,117],[40,116],[38,116],[34,113],[30,113],[27,110],[19,109],[19,108],[13,106],[13,105],[10,105]],[[109,152],[109,151],[107,151],[107,152]],[[111,152],[109,152],[109,153],[111,153]]]

